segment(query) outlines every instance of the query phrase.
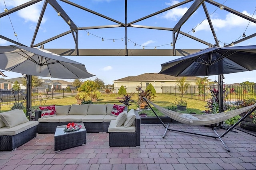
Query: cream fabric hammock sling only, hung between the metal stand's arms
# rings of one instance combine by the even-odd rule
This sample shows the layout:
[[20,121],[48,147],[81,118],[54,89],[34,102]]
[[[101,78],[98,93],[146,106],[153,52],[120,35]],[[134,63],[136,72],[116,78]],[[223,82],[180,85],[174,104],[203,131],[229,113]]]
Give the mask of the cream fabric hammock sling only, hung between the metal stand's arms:
[[240,115],[241,113],[244,113],[253,107],[256,107],[256,104],[243,107],[240,109],[235,109],[231,111],[216,113],[216,114],[207,114],[207,115],[191,115],[191,117],[197,117],[199,120],[193,120],[188,118],[180,117],[180,115],[184,115],[184,113],[179,113],[176,111],[168,110],[164,107],[160,107],[153,102],[150,102],[147,100],[148,103],[152,104],[152,106],[156,107],[161,113],[164,115],[170,117],[171,119],[174,119],[180,123],[185,123],[187,125],[212,125],[215,123],[220,123],[222,121],[225,121],[227,119],[230,119],[236,115]]

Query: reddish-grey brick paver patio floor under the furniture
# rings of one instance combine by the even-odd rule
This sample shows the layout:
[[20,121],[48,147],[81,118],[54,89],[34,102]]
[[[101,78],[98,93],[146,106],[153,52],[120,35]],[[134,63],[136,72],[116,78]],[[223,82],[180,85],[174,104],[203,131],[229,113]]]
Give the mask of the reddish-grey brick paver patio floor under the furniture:
[[[214,135],[209,127],[180,123],[170,128]],[[37,137],[14,151],[0,152],[1,170],[255,170],[256,137],[238,131],[222,140],[141,125],[140,147],[109,147],[108,133],[87,133],[86,145],[54,152],[54,134]],[[222,134],[224,130],[219,129]],[[76,140],[76,139],[74,139]]]

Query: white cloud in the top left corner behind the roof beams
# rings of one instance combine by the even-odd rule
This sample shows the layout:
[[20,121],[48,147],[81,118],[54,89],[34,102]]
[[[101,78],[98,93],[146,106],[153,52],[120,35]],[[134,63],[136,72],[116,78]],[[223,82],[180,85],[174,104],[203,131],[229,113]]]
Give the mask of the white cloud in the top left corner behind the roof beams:
[[[12,7],[22,5],[26,2],[29,2],[29,0],[6,0],[5,1],[7,9],[11,9]],[[37,23],[38,18],[40,16],[40,12],[42,10],[42,4],[43,4],[43,1],[37,2],[36,4],[30,5],[22,10],[19,10],[17,14],[18,16],[23,18],[25,22],[31,21],[31,22]],[[1,3],[1,6],[2,6],[2,3]],[[45,23],[46,20],[47,19],[44,17],[41,23]]]

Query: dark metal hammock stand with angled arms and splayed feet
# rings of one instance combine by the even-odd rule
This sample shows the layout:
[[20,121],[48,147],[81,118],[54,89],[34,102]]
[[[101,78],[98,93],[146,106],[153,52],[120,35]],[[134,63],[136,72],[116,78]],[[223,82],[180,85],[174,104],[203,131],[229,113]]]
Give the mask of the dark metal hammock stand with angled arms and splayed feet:
[[156,117],[160,120],[161,124],[164,126],[165,128],[165,132],[164,132],[164,135],[163,135],[163,138],[165,137],[166,135],[166,132],[167,130],[169,131],[176,131],[176,132],[181,132],[181,133],[188,133],[188,134],[192,134],[192,135],[200,135],[200,136],[205,136],[205,137],[212,137],[212,138],[215,138],[215,139],[220,139],[221,143],[224,145],[224,147],[226,148],[226,150],[228,152],[230,152],[229,148],[226,146],[226,144],[224,143],[224,141],[222,141],[222,137],[224,137],[224,135],[226,135],[228,132],[230,132],[232,129],[234,129],[234,127],[236,127],[236,125],[238,125],[241,121],[243,121],[248,115],[250,115],[252,112],[254,112],[256,110],[256,106],[253,107],[253,109],[251,111],[249,111],[248,113],[246,113],[246,115],[244,115],[244,117],[242,117],[238,122],[236,122],[234,125],[232,125],[230,128],[228,128],[222,135],[219,135],[217,132],[216,132],[216,129],[212,129],[214,131],[214,133],[216,133],[216,136],[212,136],[212,135],[204,135],[204,134],[200,134],[200,133],[192,133],[192,132],[187,132],[187,131],[179,131],[179,130],[175,130],[175,129],[168,129],[169,127],[169,124],[166,126],[163,121],[160,119],[160,117],[156,114],[156,112],[153,110],[153,108],[150,106],[148,100],[146,98],[143,98],[146,103],[148,104],[148,106],[150,107],[150,109],[154,112],[154,114],[156,115]]

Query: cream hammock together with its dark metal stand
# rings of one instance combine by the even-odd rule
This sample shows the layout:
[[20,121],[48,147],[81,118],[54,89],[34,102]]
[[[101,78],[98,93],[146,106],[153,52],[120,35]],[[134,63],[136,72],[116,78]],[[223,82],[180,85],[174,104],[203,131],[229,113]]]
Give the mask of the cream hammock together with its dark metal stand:
[[176,120],[176,121],[178,121],[180,123],[185,123],[185,124],[188,124],[188,125],[211,125],[211,124],[215,124],[215,123],[220,123],[222,121],[230,119],[231,117],[234,117],[236,115],[239,115],[241,113],[244,113],[244,112],[250,110],[250,111],[248,111],[248,113],[246,113],[246,115],[244,115],[244,117],[242,117],[238,122],[236,122],[234,125],[232,125],[230,128],[228,128],[222,135],[218,135],[218,133],[216,132],[216,129],[218,129],[218,128],[225,129],[225,128],[221,127],[221,125],[218,128],[212,129],[214,131],[214,133],[216,133],[216,136],[205,135],[205,134],[200,134],[200,133],[192,133],[192,132],[188,132],[188,131],[180,131],[180,130],[176,130],[176,129],[169,129],[169,123],[168,123],[167,126],[164,125],[164,123],[162,122],[160,117],[158,117],[158,119],[160,120],[162,125],[166,128],[166,130],[164,132],[164,135],[163,135],[163,138],[164,138],[167,130],[181,132],[181,133],[188,133],[188,134],[193,134],[193,135],[200,135],[200,136],[205,136],[205,137],[218,138],[218,139],[220,139],[220,141],[222,142],[222,144],[224,145],[226,150],[228,150],[228,152],[230,152],[230,150],[228,149],[228,147],[226,146],[224,141],[222,141],[222,137],[224,137],[224,135],[226,135],[228,132],[230,132],[232,129],[234,129],[234,127],[236,127],[236,125],[238,125],[248,115],[250,115],[252,112],[254,112],[256,110],[256,104],[254,104],[252,106],[247,106],[247,107],[243,107],[243,108],[240,108],[240,109],[235,109],[235,110],[231,110],[231,111],[227,111],[227,112],[221,112],[221,113],[216,113],[216,114],[192,115],[192,116],[196,117],[196,119],[198,119],[198,120],[195,120],[193,117],[191,117],[191,115],[190,115],[190,119],[184,118],[184,117],[180,117],[180,116],[184,115],[184,113],[178,113],[176,111],[165,109],[164,107],[160,107],[160,106],[154,104],[153,102],[150,102],[146,98],[143,98],[143,99],[146,101],[146,103],[148,104],[150,109],[154,112],[156,117],[158,117],[158,115],[152,109],[150,104],[152,104],[152,106],[156,107],[156,109],[161,111],[161,113],[163,113],[164,115],[166,115],[166,116],[168,116],[168,117],[170,117],[170,118],[172,118],[172,119],[174,119],[174,120]]

